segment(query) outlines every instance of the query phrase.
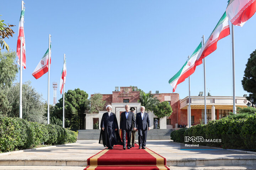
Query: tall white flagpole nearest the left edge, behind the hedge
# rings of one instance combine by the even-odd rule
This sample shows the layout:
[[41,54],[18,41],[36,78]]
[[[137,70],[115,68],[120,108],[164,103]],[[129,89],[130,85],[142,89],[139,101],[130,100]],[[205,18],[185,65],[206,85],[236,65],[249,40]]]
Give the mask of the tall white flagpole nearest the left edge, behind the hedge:
[[[23,10],[24,1],[21,1],[21,11]],[[20,28],[18,28],[20,29]],[[20,44],[20,118],[22,119],[22,58],[23,58],[23,37],[21,36],[21,44]]]

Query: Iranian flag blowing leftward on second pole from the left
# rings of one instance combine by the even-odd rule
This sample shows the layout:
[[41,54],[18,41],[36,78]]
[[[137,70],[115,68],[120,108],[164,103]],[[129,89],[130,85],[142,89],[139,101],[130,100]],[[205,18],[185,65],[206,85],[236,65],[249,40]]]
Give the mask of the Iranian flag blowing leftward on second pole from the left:
[[[50,46],[51,48],[51,46]],[[36,69],[32,73],[34,78],[38,79],[40,78],[43,74],[48,72],[48,58],[49,58],[49,49],[46,51],[44,54],[43,58],[41,61],[38,63]],[[50,63],[51,63],[51,58],[50,58]]]

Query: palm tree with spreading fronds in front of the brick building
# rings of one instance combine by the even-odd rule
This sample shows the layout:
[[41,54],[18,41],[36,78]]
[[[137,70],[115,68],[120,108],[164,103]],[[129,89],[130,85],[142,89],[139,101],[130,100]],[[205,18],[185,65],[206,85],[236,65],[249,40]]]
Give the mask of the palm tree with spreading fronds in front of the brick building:
[[154,97],[154,95],[150,93],[145,93],[144,91],[140,91],[140,99],[138,102],[141,103],[141,106],[145,107],[146,111],[153,111],[154,106],[160,103],[157,97]]

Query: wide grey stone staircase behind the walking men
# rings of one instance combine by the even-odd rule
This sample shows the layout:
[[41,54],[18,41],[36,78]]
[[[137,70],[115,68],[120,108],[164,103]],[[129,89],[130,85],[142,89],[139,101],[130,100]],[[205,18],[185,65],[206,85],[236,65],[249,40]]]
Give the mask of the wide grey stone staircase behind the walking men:
[[[168,140],[172,129],[151,129],[148,130],[147,140]],[[99,140],[99,129],[78,130],[78,140]],[[138,140],[138,132],[135,140]]]

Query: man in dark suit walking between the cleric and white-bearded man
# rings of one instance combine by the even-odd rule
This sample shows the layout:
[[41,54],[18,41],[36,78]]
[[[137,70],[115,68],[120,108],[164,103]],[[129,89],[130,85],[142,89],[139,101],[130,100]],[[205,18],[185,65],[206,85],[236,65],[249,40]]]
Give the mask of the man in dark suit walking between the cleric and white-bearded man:
[[[126,111],[121,113],[120,118],[120,129],[123,133],[123,149],[126,149],[126,133],[127,133],[127,149],[130,149],[130,139],[132,134],[132,129],[135,127],[135,117],[133,112],[129,112],[130,106],[126,104]],[[135,128],[134,128],[135,129]]]

